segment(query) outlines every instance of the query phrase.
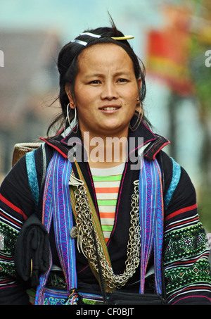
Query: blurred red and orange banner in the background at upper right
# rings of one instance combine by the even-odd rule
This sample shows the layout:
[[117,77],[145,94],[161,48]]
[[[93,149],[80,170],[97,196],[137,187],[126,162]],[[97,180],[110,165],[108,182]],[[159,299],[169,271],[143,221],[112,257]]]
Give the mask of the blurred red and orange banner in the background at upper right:
[[187,43],[181,41],[178,42],[174,35],[170,37],[165,32],[151,31],[148,35],[147,74],[167,83],[173,92],[188,95],[193,92],[193,83],[188,68]]

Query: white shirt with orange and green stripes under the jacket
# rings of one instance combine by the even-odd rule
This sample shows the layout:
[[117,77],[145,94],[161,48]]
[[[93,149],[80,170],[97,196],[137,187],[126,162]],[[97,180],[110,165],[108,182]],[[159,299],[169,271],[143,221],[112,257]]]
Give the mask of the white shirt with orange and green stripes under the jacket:
[[113,230],[117,196],[124,163],[113,168],[91,168],[98,203],[101,226],[106,243]]

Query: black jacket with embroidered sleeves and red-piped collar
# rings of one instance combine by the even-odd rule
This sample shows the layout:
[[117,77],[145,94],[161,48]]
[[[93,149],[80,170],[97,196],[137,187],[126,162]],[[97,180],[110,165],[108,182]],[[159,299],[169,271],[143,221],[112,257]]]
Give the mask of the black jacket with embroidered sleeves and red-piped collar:
[[[70,142],[70,137],[72,137]],[[145,125],[140,125],[139,130],[130,132],[129,137],[136,140],[133,149],[129,144],[129,159],[127,169],[120,185],[118,195],[118,207],[115,214],[115,227],[108,241],[108,252],[112,261],[114,273],[122,273],[127,256],[127,240],[129,229],[129,211],[131,209],[132,185],[139,179],[139,170],[132,170],[134,164],[132,154],[139,149],[138,137],[143,137],[144,156],[149,161],[155,157],[162,167],[164,182],[165,202],[164,215],[164,242],[163,263],[165,275],[165,290],[170,304],[210,304],[211,301],[211,276],[210,265],[207,260],[207,240],[203,225],[198,219],[196,192],[186,171],[180,168],[174,173],[172,159],[162,151],[169,144],[167,139],[154,135]],[[58,151],[68,158],[75,148],[72,147],[73,139],[79,141],[77,135],[58,135],[46,142],[46,163],[48,165],[53,151]],[[134,139],[132,139],[134,142]],[[142,141],[141,141],[142,142]],[[130,142],[129,142],[130,143]],[[136,156],[135,156],[136,157]],[[37,214],[41,219],[42,192],[41,179],[43,165],[41,149],[35,151],[37,177],[40,187],[39,208]],[[96,203],[94,184],[89,175],[89,165],[86,161],[79,163],[84,178],[89,187],[90,194]],[[178,165],[177,165],[178,167]],[[172,179],[172,176],[173,179]],[[172,185],[176,184],[176,188]],[[171,192],[174,189],[174,192]],[[96,205],[96,210],[98,207]],[[27,218],[34,213],[34,199],[27,181],[25,158],[21,158],[15,167],[8,173],[0,189],[0,304],[27,304],[25,284],[18,278],[14,265],[15,242],[20,229]],[[51,249],[53,251],[53,263],[60,265],[56,252],[53,232],[50,232]],[[97,282],[92,275],[87,259],[76,249],[77,278],[79,287],[96,287]],[[151,268],[153,258],[149,261]],[[137,292],[136,282],[139,282],[139,269],[129,280],[124,289]],[[146,292],[153,292],[153,282],[146,280]]]

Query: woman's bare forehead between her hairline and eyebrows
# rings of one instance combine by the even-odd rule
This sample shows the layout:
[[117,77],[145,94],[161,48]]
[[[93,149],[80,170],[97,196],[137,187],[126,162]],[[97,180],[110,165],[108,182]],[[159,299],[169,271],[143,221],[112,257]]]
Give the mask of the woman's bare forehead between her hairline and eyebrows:
[[117,44],[94,44],[88,46],[78,57],[79,70],[87,68],[104,68],[109,65],[115,68],[132,68],[133,62],[129,54]]

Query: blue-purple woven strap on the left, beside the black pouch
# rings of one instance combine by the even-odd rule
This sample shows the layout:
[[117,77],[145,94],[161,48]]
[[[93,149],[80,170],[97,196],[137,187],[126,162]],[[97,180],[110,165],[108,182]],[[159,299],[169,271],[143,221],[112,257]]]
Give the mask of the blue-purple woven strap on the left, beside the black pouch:
[[[58,152],[55,152],[46,173],[43,206],[43,223],[48,232],[53,217],[56,246],[68,292],[72,288],[77,288],[75,239],[72,239],[69,235],[70,229],[73,226],[68,184],[71,167],[70,161],[67,161]],[[44,304],[44,287],[48,275],[49,272],[40,277],[35,304]]]

